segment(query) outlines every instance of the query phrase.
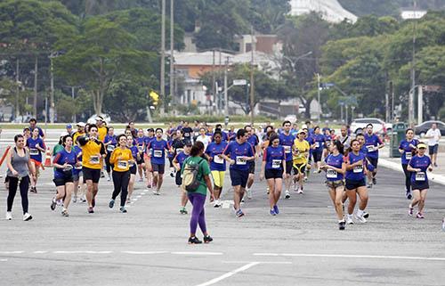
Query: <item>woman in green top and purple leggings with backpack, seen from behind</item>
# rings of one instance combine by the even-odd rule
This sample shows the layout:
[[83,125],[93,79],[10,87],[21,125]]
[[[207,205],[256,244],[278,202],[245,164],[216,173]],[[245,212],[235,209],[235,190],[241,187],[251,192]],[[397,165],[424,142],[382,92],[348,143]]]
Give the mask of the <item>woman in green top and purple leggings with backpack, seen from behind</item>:
[[214,200],[214,190],[212,181],[210,180],[210,168],[206,159],[201,156],[204,153],[204,144],[197,141],[190,150],[190,157],[185,159],[182,165],[182,187],[187,192],[190,203],[193,206],[190,217],[190,237],[189,244],[199,244],[196,237],[196,230],[201,229],[204,234],[204,243],[213,241],[206,230],[206,217],[204,212],[204,204],[206,203],[207,188],[210,192],[212,200]]

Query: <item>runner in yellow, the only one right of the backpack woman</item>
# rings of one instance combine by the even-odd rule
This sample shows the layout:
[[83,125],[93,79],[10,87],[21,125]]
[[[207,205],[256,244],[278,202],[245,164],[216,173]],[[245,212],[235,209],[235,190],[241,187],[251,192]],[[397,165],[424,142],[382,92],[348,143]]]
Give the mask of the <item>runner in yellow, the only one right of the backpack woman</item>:
[[304,171],[308,166],[311,146],[304,139],[307,129],[300,129],[292,147],[292,166],[294,168],[294,191],[303,193]]

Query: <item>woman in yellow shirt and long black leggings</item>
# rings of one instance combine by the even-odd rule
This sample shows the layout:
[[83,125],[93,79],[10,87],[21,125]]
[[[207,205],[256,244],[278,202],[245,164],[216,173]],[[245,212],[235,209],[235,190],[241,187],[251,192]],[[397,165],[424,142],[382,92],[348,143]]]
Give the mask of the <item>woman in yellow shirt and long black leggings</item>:
[[114,202],[117,195],[120,193],[120,212],[126,213],[125,202],[128,195],[128,183],[130,182],[130,164],[129,161],[133,161],[134,158],[132,151],[126,148],[125,135],[118,135],[116,141],[118,147],[111,153],[109,162],[114,165],[113,167],[113,184],[114,192],[109,200],[109,208],[114,207]]

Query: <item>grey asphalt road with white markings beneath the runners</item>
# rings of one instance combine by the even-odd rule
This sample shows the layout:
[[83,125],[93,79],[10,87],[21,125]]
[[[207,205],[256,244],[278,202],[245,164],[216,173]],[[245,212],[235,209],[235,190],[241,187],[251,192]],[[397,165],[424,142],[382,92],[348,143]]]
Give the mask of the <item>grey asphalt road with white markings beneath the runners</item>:
[[[190,217],[179,214],[169,176],[160,196],[136,183],[127,214],[108,208],[112,184],[101,179],[96,212],[74,203],[70,217],[51,211],[51,179],[48,169],[30,194],[32,221],[21,220],[20,196],[13,220],[0,220],[0,285],[444,285],[443,187],[432,184],[425,219],[409,217],[403,177],[392,170],[380,169],[365,225],[339,231],[323,178],[311,174],[303,195],[280,200],[277,217],[264,182],[245,217],[207,205],[206,245],[187,244]],[[225,200],[229,184],[226,176]],[[0,193],[5,209],[4,184]]]

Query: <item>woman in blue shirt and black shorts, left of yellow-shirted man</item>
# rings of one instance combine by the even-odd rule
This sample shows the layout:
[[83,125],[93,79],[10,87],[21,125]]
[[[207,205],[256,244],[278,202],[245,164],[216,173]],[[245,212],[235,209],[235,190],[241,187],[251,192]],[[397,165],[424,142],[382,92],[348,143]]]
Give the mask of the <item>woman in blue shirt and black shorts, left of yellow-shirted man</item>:
[[53,182],[57,188],[57,194],[51,202],[51,209],[54,210],[57,200],[63,199],[63,209],[61,215],[69,217],[68,207],[71,202],[71,194],[74,190],[73,168],[77,164],[77,154],[73,151],[73,138],[65,135],[62,139],[64,149],[57,153],[53,159],[54,179]]

